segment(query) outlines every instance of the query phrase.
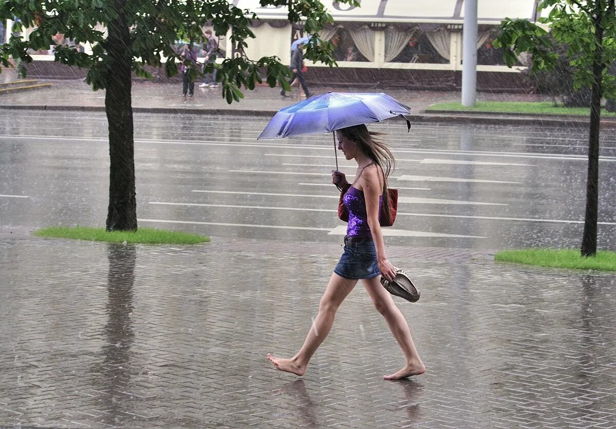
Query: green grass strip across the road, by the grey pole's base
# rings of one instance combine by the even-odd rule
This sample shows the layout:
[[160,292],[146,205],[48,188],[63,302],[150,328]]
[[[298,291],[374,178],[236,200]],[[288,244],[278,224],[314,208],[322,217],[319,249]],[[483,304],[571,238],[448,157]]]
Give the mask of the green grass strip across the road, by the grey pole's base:
[[[460,112],[506,112],[506,113],[545,113],[548,115],[590,116],[588,107],[564,107],[549,101],[478,101],[474,107],[464,107],[460,102],[432,104],[428,110],[458,110]],[[616,116],[616,112],[601,109],[601,116]]]

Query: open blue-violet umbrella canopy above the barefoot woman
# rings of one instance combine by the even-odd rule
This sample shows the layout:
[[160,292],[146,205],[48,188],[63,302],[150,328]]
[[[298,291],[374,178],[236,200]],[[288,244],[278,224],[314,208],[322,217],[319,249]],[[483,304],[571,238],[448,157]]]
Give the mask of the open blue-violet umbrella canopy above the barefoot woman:
[[409,110],[407,105],[383,92],[330,91],[278,110],[257,140],[327,133],[407,115]]

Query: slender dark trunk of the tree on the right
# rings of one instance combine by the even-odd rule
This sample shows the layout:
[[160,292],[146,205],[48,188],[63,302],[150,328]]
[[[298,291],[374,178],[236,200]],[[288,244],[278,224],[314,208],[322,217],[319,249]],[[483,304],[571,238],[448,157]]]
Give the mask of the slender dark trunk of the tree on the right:
[[582,256],[597,253],[597,218],[599,206],[599,127],[601,126],[603,62],[602,10],[597,6],[594,17],[595,51],[593,60],[593,94],[590,104],[590,137],[588,139],[588,176],[586,178],[586,213],[582,237]]

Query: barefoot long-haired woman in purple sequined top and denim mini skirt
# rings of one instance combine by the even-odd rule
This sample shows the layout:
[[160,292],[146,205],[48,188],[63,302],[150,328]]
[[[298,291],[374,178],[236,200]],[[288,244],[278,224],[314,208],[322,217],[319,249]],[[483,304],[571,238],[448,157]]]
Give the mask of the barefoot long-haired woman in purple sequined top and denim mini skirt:
[[[334,268],[330,282],[318,305],[314,321],[304,345],[290,359],[275,358],[267,354],[277,369],[304,375],[312,355],[330,332],[336,310],[344,298],[362,280],[376,310],[383,315],[389,329],[405,357],[405,365],[395,374],[386,375],[386,380],[397,380],[411,375],[423,374],[426,370],[415,349],[407,321],[395,306],[391,295],[379,282],[380,276],[392,280],[394,266],[385,256],[385,243],[379,225],[379,210],[387,210],[387,176],[395,165],[387,147],[374,140],[365,125],[356,125],[336,131],[338,149],[347,160],[355,159],[355,181],[344,196],[349,209],[349,226],[344,237],[344,253]],[[347,184],[344,174],[334,171],[332,182],[338,186]],[[385,201],[384,201],[385,199]]]

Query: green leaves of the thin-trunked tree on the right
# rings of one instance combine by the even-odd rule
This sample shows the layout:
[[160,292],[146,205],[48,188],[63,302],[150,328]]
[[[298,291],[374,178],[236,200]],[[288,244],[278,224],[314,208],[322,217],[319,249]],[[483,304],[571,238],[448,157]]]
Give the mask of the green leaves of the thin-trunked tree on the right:
[[[529,20],[507,18],[501,23],[494,46],[503,49],[509,67],[517,55],[532,55],[532,71],[551,71],[559,61],[559,47],[566,47],[566,56],[573,69],[575,89],[590,88],[593,84],[593,64],[599,61],[604,68],[603,94],[616,98],[616,78],[607,67],[616,61],[616,16],[614,0],[543,0],[540,10],[549,10],[537,25]],[[603,31],[598,42],[596,28]],[[549,33],[545,28],[549,28]]]

